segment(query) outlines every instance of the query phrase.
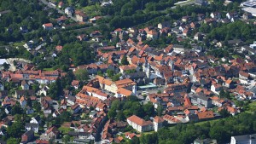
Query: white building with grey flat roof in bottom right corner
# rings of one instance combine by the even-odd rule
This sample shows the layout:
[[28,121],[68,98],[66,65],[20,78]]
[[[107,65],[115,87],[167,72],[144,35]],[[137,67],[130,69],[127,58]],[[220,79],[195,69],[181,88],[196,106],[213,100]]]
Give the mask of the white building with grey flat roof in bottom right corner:
[[231,136],[230,144],[254,144],[256,143],[256,134]]

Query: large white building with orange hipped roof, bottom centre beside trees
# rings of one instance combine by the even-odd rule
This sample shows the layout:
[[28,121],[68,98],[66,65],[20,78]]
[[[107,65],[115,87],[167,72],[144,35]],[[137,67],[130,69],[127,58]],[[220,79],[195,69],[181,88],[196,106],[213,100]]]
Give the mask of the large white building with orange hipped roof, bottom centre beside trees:
[[145,121],[143,118],[139,118],[136,115],[127,118],[127,123],[139,132],[154,130],[154,124],[151,121]]

